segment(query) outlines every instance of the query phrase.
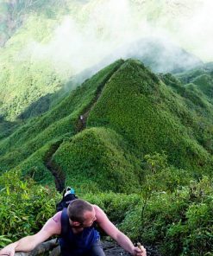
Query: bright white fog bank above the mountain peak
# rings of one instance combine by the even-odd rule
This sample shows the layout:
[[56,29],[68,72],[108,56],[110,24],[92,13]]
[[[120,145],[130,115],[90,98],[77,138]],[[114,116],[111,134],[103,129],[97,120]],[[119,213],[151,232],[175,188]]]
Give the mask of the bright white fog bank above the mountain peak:
[[[60,72],[69,76],[103,59],[108,61],[102,61],[101,67],[116,58],[137,57],[138,48],[134,48],[135,52],[131,49],[129,54],[127,46],[143,38],[151,42],[153,38],[155,44],[163,42],[161,51],[168,48],[168,53],[161,53],[161,56],[170,54],[173,44],[176,62],[183,63],[183,52],[179,50],[178,55],[178,47],[201,61],[212,61],[211,1],[76,0],[66,1],[66,6],[69,11],[60,19],[51,39],[42,44],[28,42],[22,56],[50,59]],[[147,48],[140,48],[139,56],[144,54]],[[191,60],[191,57],[190,61],[186,60],[190,66]],[[197,64],[197,59],[195,62]],[[170,63],[168,66],[171,67]],[[171,70],[164,67],[156,71]]]

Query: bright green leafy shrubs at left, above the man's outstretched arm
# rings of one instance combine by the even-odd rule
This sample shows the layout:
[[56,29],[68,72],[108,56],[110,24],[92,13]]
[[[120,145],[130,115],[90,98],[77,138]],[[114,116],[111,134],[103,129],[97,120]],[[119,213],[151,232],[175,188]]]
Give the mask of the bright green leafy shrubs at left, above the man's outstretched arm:
[[17,240],[34,234],[55,212],[59,200],[55,189],[22,181],[20,172],[0,176],[0,230],[2,240]]

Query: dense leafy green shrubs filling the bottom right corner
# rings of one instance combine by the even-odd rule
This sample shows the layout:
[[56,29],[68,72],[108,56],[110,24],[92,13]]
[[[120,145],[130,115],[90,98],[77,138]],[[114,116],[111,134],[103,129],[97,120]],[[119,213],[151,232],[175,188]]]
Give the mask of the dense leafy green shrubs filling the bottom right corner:
[[134,240],[157,245],[163,255],[210,255],[212,196],[212,181],[206,176],[172,194],[155,192],[144,213],[139,205],[126,215],[122,230]]

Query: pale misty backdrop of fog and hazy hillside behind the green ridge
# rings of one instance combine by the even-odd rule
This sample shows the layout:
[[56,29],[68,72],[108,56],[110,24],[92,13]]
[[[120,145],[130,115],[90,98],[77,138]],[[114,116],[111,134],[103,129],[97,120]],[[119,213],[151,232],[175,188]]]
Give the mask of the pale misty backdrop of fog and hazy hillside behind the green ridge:
[[211,7],[209,0],[2,0],[0,112],[14,108],[17,116],[120,58],[157,73],[202,66],[213,56]]

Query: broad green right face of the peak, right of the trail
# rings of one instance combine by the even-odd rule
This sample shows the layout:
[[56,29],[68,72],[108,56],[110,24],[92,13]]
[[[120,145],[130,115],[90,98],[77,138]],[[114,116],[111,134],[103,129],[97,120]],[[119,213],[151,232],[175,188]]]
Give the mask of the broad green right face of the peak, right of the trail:
[[178,112],[187,112],[183,99],[140,63],[127,61],[104,87],[88,125],[116,130],[138,152],[166,150],[176,166],[202,170],[208,166],[210,155],[191,137]]

